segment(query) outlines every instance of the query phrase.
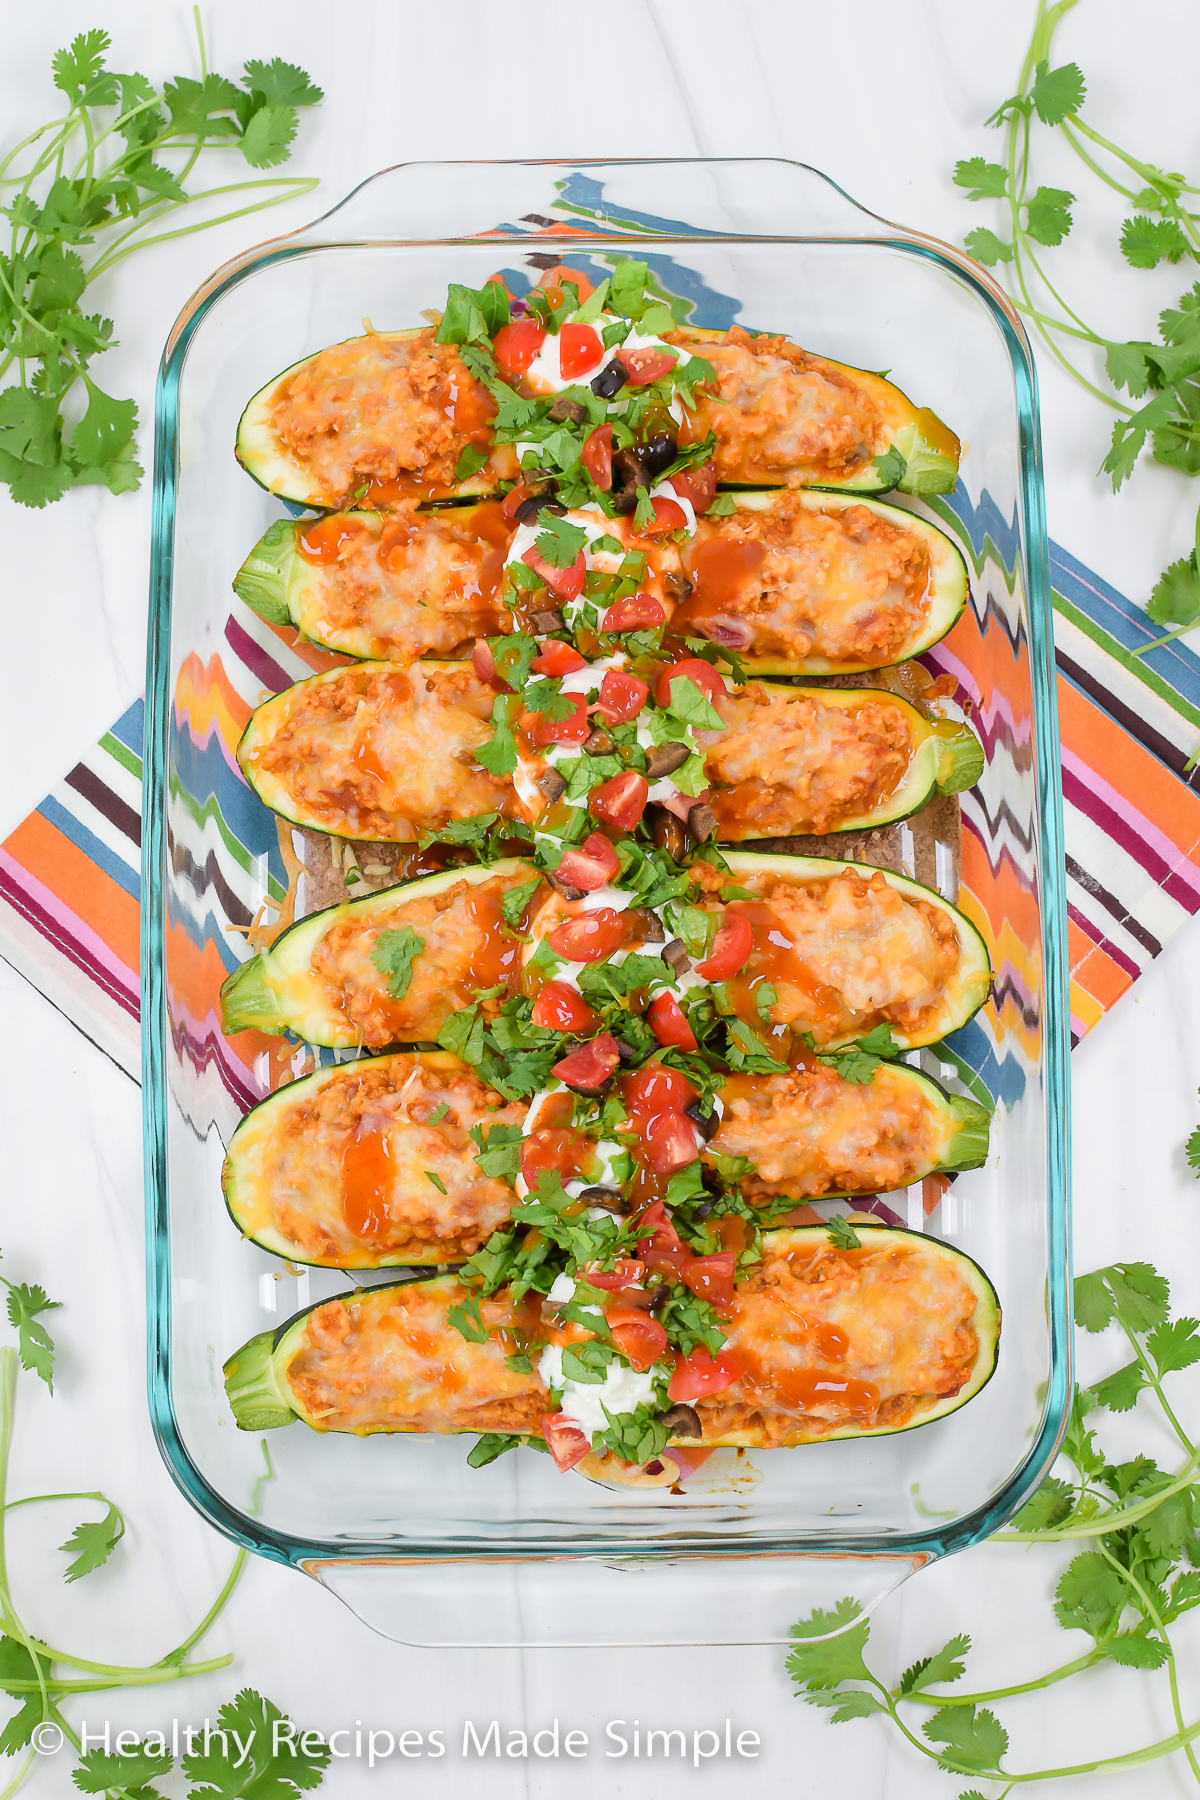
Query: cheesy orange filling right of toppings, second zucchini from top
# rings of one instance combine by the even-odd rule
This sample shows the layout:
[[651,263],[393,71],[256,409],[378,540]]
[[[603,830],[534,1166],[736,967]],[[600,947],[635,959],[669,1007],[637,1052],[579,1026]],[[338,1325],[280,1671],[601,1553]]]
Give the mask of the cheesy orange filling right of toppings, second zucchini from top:
[[694,590],[680,623],[790,662],[894,662],[930,608],[928,545],[869,506],[817,511],[781,495],[770,511],[702,517],[684,569]]

